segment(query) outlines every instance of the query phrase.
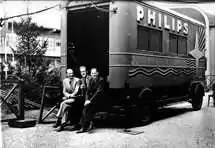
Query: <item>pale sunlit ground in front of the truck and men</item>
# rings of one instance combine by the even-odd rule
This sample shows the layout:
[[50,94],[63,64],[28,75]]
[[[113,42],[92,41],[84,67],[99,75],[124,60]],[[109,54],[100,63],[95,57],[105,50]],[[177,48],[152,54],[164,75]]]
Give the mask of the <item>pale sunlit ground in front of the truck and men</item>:
[[91,134],[58,133],[52,124],[19,129],[3,122],[3,148],[214,148],[215,108],[206,106],[206,98],[200,111],[191,111],[189,103],[160,110],[153,123],[130,129],[133,134],[139,132],[136,135],[120,128],[100,128]]

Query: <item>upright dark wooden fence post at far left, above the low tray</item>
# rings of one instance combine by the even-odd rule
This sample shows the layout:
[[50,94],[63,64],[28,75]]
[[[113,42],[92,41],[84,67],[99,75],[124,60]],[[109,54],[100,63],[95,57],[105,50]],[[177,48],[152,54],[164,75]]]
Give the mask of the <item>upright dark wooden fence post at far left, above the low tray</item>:
[[23,81],[19,80],[19,99],[18,99],[19,120],[24,120],[24,96],[23,96]]

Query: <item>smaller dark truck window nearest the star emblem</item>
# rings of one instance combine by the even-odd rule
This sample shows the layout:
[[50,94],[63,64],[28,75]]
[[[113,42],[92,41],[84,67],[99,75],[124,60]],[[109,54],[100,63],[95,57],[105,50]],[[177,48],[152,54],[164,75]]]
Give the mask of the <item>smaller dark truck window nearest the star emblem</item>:
[[171,53],[186,55],[187,54],[187,37],[170,34],[170,49]]

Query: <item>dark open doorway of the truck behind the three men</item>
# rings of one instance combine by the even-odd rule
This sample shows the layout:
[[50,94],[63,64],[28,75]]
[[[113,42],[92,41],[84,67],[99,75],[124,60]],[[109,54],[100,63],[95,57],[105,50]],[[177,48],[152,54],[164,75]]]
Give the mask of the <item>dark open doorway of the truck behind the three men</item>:
[[86,65],[88,69],[96,67],[106,78],[109,71],[109,13],[96,8],[68,11],[67,35],[67,66],[76,72],[80,65]]

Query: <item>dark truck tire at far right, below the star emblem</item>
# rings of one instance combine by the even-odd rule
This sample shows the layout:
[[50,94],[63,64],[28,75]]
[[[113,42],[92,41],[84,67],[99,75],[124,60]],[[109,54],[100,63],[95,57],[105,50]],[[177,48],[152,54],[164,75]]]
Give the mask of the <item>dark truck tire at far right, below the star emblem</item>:
[[200,110],[202,107],[204,96],[204,87],[201,84],[197,84],[193,90],[192,107],[194,111]]

